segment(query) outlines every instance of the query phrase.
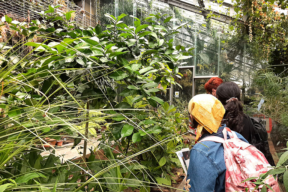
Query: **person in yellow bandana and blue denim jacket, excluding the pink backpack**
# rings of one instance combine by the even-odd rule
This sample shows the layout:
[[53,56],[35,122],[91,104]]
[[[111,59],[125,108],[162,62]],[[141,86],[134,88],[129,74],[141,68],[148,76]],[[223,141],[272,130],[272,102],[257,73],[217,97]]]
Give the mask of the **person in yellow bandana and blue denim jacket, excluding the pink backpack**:
[[[226,125],[221,125],[221,121],[225,109],[213,95],[200,94],[190,100],[188,111],[191,126],[196,129],[198,143],[190,150],[190,163],[184,190],[224,192],[226,166],[223,145],[213,141],[201,142],[201,140],[211,135],[223,138],[222,131]],[[239,139],[247,142],[240,134],[236,134]]]

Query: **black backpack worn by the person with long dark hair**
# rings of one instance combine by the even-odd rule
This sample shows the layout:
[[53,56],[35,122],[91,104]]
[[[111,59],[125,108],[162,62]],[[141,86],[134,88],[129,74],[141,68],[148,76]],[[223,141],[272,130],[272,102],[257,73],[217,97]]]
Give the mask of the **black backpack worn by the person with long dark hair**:
[[264,154],[271,166],[275,166],[268,144],[268,133],[261,123],[262,119],[258,117],[244,117],[248,119],[250,128],[250,140],[248,142]]

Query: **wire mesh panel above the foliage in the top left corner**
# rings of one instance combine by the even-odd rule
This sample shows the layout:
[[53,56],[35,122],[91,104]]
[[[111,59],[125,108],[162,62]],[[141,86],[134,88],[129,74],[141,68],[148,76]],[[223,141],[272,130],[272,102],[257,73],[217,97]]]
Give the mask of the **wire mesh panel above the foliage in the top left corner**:
[[76,21],[78,26],[95,26],[95,16],[93,14],[68,0],[0,0],[0,13],[2,16],[7,14],[22,21],[35,20],[41,17],[37,12],[48,10],[49,5],[56,4],[62,5],[58,9],[64,13],[74,10],[73,21]]

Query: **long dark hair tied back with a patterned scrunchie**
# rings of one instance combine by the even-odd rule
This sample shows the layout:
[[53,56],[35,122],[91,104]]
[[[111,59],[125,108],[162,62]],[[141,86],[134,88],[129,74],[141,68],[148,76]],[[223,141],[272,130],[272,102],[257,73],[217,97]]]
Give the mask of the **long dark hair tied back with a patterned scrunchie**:
[[[240,102],[240,88],[234,82],[223,82],[217,88],[216,95],[226,110],[222,123],[231,130],[242,134],[244,113]],[[230,98],[237,98],[238,101],[227,102]]]

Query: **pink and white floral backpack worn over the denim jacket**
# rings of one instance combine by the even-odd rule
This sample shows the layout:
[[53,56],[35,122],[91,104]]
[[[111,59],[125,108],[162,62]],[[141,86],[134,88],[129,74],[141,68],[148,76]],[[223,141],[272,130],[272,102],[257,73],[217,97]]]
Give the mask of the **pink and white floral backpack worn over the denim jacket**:
[[[214,141],[223,143],[224,159],[226,165],[225,175],[225,191],[226,192],[259,192],[263,185],[260,185],[258,190],[254,190],[255,184],[250,181],[243,182],[250,177],[259,177],[262,173],[266,173],[272,169],[262,152],[256,147],[240,140],[234,131],[229,128],[224,128],[222,131],[224,138],[217,136],[209,136],[202,139],[202,141]],[[230,139],[227,139],[227,133]],[[256,182],[253,181],[253,182]],[[269,184],[275,192],[279,192],[277,181],[272,176],[268,176],[265,183]],[[267,189],[272,192],[272,190]]]

